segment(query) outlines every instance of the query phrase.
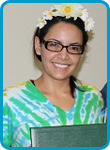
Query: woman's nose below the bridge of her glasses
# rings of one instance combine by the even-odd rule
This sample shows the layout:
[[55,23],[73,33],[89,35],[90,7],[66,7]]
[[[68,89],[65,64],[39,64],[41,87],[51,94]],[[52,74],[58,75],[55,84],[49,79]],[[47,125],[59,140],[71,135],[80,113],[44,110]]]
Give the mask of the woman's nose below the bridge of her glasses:
[[63,47],[62,51],[58,53],[58,58],[60,58],[62,61],[69,59],[67,47]]

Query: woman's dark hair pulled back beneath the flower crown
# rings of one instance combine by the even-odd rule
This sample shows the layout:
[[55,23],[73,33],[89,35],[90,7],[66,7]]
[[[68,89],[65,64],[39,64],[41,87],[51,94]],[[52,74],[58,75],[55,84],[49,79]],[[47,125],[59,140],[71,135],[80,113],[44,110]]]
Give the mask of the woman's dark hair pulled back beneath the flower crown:
[[[68,18],[68,19],[65,17],[59,17],[59,16],[53,17],[52,20],[47,20],[47,24],[43,28],[41,28],[41,29],[37,28],[35,33],[34,33],[34,36],[33,36],[33,52],[34,52],[34,56],[36,56],[39,61],[42,61],[42,60],[41,60],[41,56],[37,55],[36,51],[35,51],[35,37],[38,36],[40,39],[40,42],[42,43],[42,41],[43,41],[44,37],[46,36],[46,34],[48,33],[49,29],[52,26],[54,26],[55,24],[58,24],[60,22],[65,22],[65,23],[76,25],[82,31],[83,46],[86,45],[86,43],[88,41],[88,34],[85,31],[84,22],[80,18],[77,18],[76,20],[74,20],[73,17]],[[73,97],[74,97],[73,93],[74,93],[74,90],[76,88],[76,84],[74,83],[74,81],[76,81],[76,80],[77,79],[75,77],[73,77],[73,76],[70,77],[71,95]]]

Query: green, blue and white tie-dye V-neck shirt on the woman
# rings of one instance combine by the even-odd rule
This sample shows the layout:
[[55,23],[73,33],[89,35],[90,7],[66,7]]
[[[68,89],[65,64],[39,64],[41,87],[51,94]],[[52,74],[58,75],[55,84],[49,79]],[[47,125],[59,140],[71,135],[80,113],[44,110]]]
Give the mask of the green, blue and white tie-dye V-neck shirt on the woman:
[[30,80],[4,90],[4,144],[30,147],[30,127],[103,123],[100,92],[88,84],[82,88],[75,89],[75,104],[69,111],[53,105]]

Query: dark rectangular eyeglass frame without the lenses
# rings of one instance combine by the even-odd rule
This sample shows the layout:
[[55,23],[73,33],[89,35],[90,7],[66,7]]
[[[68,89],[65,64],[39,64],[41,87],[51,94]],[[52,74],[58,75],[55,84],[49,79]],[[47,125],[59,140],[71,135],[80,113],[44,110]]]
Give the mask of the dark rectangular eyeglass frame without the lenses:
[[[73,45],[69,45],[69,46],[64,46],[64,45],[62,45],[61,43],[59,43],[59,42],[57,42],[57,41],[55,41],[55,42],[62,46],[61,50],[60,50],[60,51],[50,50],[50,49],[47,48],[47,45],[48,45],[48,43],[51,42],[51,41],[54,42],[54,40],[48,40],[48,41],[46,41],[46,40],[44,40],[44,39],[42,40],[42,43],[44,44],[45,48],[46,48],[48,51],[51,51],[51,52],[61,52],[61,51],[63,50],[63,48],[66,48],[67,52],[68,52],[69,54],[72,54],[72,55],[81,55],[81,54],[83,54],[83,52],[84,52],[84,45],[78,45],[78,44],[75,44],[75,45],[74,45],[74,44],[73,44]],[[81,51],[80,53],[70,53],[70,52],[68,51],[68,47],[70,47],[70,46],[79,46],[79,47],[82,48],[82,51]]]

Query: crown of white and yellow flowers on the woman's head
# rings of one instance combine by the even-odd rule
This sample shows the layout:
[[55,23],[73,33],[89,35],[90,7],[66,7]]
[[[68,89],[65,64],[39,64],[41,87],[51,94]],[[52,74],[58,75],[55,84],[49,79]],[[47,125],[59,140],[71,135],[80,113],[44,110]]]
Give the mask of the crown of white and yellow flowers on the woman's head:
[[87,9],[84,9],[81,4],[77,3],[63,3],[61,5],[54,5],[50,8],[50,10],[46,10],[42,14],[43,17],[38,19],[37,24],[37,27],[40,29],[47,24],[46,20],[52,20],[53,17],[57,16],[66,17],[67,19],[74,17],[74,20],[79,17],[85,24],[85,31],[92,30],[95,23],[92,18],[88,17]]

